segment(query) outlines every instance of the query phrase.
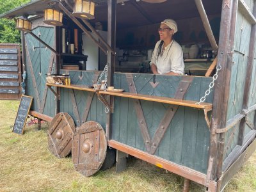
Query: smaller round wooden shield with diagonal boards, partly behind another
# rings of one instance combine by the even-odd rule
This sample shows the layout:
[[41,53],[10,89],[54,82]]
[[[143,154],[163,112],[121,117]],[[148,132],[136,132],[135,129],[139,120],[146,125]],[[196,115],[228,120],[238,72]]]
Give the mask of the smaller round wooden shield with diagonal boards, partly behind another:
[[68,113],[58,113],[47,131],[49,150],[54,156],[63,158],[70,154],[76,125]]

